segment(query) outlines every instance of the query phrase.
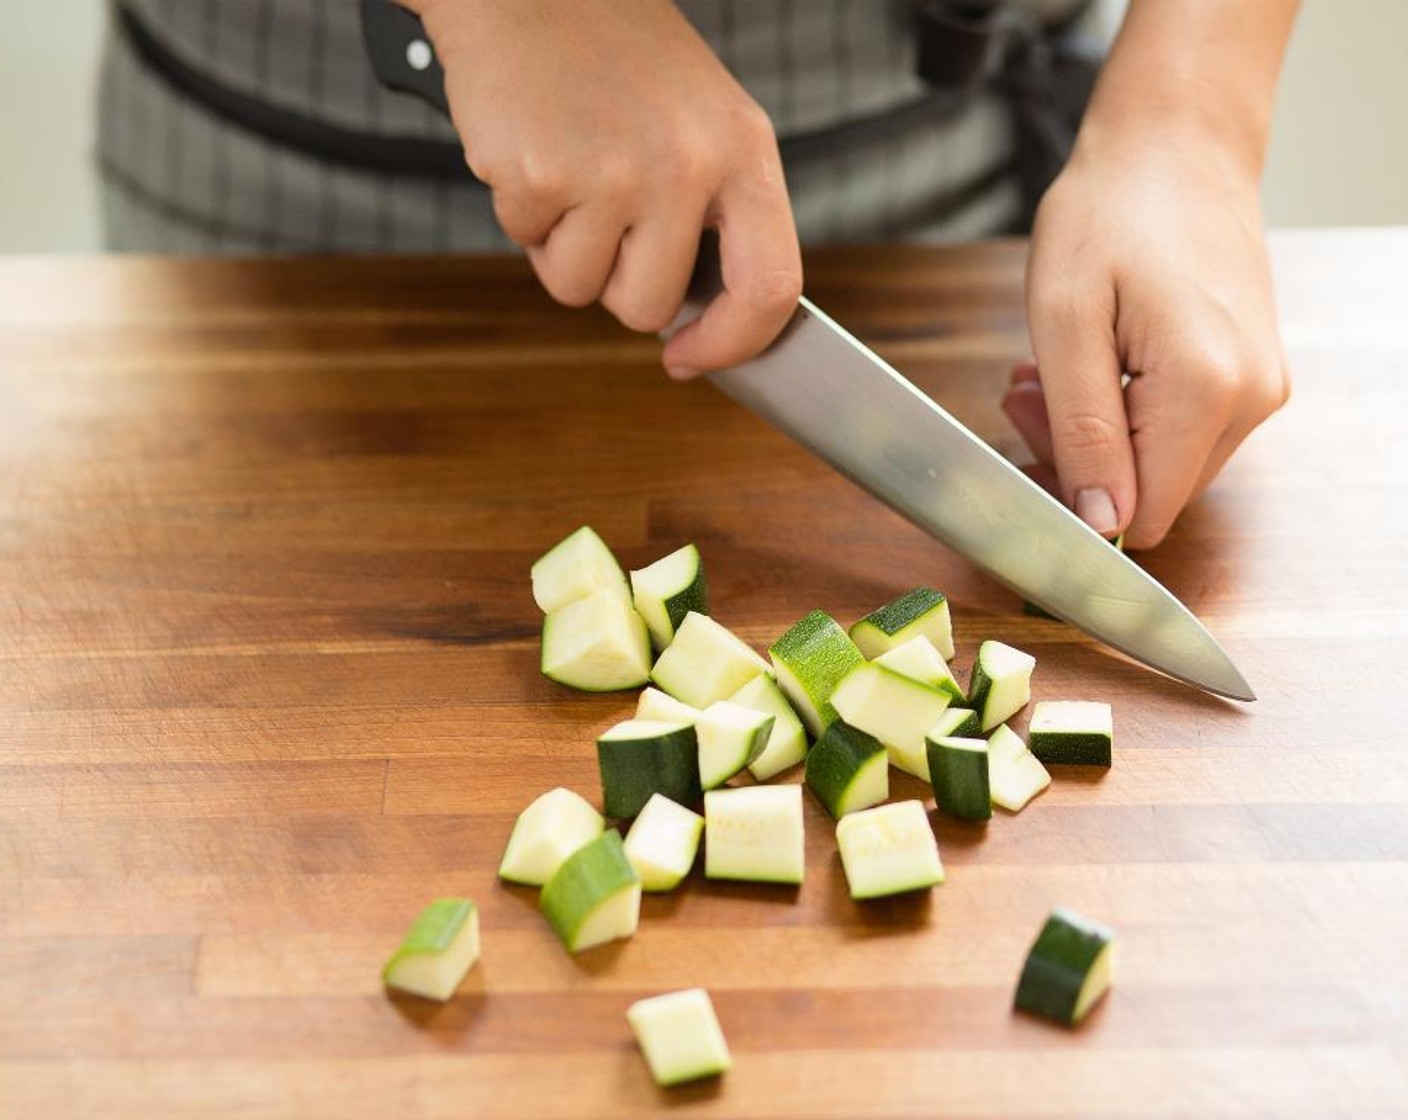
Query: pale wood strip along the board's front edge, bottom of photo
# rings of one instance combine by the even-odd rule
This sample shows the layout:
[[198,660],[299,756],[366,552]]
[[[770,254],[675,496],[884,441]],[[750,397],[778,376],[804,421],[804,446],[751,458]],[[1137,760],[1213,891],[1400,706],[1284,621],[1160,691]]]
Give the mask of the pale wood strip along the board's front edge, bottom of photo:
[[[303,1062],[4,1062],[21,1117],[355,1113],[390,1088],[418,1116],[655,1116],[687,1103],[701,1116],[1071,1117],[1388,1116],[1408,1102],[1402,1050],[1031,1051],[811,1050],[749,1055],[721,1085],[658,1090],[624,1037],[614,1055],[411,1057]],[[1021,1076],[1014,1076],[1014,1068]],[[525,1086],[528,1086],[525,1089]],[[1128,1086],[1138,1086],[1131,1092]]]

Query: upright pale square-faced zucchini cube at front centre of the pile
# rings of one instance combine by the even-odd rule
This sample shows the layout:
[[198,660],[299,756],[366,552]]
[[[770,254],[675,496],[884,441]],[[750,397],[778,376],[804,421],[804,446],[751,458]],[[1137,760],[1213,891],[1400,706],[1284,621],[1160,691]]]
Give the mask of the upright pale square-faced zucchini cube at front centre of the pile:
[[710,879],[800,883],[805,875],[801,786],[741,786],[704,795]]

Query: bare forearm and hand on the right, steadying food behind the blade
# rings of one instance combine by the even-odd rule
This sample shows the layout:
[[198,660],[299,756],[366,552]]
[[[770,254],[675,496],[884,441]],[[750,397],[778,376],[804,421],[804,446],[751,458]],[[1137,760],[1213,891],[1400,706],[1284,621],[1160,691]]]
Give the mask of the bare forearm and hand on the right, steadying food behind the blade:
[[1288,393],[1259,180],[1295,8],[1132,0],[1036,214],[1036,362],[1004,409],[1064,500],[1132,548]]

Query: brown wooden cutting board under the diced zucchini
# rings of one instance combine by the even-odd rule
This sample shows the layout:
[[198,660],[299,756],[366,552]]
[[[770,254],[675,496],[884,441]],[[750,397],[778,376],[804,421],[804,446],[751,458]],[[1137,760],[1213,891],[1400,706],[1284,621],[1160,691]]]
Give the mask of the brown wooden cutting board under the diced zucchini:
[[[1022,255],[822,252],[808,290],[1017,452]],[[0,263],[0,1116],[1408,1112],[1408,231],[1276,256],[1295,399],[1142,558],[1253,706],[1025,617],[518,263]],[[1038,699],[1114,704],[1114,769],[936,817],[948,882],[865,906],[808,799],[800,890],[696,876],[569,958],[494,868],[634,700],[536,672],[528,565],[583,523],[696,541],[760,648],[941,587],[960,679],[1029,649]],[[483,962],[387,999],[439,895]],[[1056,903],[1119,937],[1076,1033],[1010,1010]],[[689,985],[735,1068],[658,1090],[624,1010]]]

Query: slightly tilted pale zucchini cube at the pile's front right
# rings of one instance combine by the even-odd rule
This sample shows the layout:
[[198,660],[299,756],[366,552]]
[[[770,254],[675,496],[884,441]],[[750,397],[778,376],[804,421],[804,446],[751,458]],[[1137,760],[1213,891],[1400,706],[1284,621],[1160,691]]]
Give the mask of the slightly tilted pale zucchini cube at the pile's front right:
[[853,899],[879,899],[943,882],[939,844],[922,802],[850,813],[836,821],[836,844]]

